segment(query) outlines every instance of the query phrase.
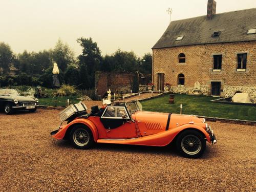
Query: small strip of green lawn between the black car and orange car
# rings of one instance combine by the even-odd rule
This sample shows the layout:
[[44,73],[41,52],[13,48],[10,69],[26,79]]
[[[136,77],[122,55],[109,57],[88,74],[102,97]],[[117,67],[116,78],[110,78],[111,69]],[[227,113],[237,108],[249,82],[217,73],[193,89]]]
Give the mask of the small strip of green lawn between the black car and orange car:
[[67,106],[67,99],[69,99],[70,104],[78,103],[80,100],[76,99],[78,96],[69,97],[57,97],[55,98],[41,98],[39,99],[39,105],[47,106]]

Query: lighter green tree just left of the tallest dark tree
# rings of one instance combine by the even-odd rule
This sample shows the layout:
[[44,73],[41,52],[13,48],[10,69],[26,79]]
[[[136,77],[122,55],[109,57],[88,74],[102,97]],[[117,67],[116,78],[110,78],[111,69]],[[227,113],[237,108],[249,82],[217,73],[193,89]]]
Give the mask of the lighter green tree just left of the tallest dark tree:
[[50,50],[50,53],[51,58],[61,71],[65,71],[69,65],[75,62],[74,52],[68,44],[63,44],[61,39],[58,39],[55,48]]

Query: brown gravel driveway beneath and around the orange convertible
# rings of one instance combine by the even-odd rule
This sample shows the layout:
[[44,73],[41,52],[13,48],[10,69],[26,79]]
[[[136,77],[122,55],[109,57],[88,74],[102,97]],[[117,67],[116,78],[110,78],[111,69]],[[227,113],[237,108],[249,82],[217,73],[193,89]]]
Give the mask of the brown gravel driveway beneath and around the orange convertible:
[[0,113],[0,191],[255,191],[255,126],[208,122],[218,143],[199,159],[173,147],[96,144],[50,132],[59,111]]

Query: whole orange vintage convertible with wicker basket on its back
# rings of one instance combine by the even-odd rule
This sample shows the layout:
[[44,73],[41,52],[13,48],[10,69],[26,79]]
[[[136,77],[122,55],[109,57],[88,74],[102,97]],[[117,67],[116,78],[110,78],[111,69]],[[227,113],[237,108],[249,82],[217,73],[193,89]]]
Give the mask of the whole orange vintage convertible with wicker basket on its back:
[[94,143],[150,146],[174,143],[181,155],[190,158],[203,154],[206,141],[217,142],[204,118],[142,111],[138,101],[106,106],[104,111],[93,106],[90,114],[86,110],[82,103],[63,110],[60,118],[68,124],[51,132],[53,138],[70,139],[79,149],[90,148]]

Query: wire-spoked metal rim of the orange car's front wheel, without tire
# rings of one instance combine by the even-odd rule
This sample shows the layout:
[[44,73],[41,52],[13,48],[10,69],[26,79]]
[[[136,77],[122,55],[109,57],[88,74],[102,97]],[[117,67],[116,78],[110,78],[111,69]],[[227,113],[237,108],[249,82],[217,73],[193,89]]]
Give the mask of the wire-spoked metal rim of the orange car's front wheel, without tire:
[[195,135],[187,135],[181,141],[182,150],[188,155],[198,154],[202,148],[200,139]]

